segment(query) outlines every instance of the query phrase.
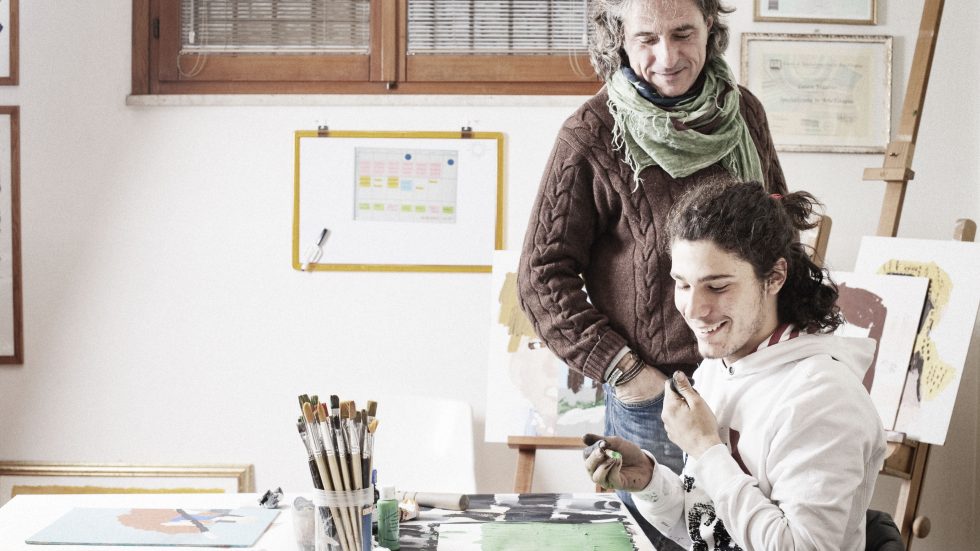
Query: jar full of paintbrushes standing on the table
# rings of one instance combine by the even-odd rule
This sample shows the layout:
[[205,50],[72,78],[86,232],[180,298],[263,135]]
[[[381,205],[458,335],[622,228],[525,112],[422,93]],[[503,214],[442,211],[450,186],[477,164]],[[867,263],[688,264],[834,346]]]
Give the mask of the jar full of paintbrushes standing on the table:
[[377,403],[357,410],[334,395],[330,405],[316,395],[299,397],[296,422],[313,479],[316,551],[369,551],[374,487],[371,456]]

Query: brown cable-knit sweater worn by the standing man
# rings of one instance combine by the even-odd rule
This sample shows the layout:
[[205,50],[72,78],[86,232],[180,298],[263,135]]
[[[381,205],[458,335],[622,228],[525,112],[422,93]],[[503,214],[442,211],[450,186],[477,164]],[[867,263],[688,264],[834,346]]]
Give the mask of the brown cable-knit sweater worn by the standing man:
[[[740,91],[766,184],[773,193],[786,193],[762,104]],[[687,188],[727,172],[715,164],[674,179],[653,166],[633,192],[632,171],[612,148],[607,101],[603,88],[558,133],[524,239],[521,307],[548,347],[588,377],[603,380],[623,346],[667,376],[678,367],[690,375],[687,368],[700,358],[674,307],[661,232]]]

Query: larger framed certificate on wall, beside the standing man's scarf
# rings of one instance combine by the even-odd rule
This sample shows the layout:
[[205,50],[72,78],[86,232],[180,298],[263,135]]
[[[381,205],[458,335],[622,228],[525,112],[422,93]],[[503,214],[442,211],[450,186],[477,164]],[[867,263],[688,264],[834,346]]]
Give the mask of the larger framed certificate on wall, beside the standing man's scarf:
[[777,151],[884,153],[892,37],[742,34],[741,81],[766,109]]

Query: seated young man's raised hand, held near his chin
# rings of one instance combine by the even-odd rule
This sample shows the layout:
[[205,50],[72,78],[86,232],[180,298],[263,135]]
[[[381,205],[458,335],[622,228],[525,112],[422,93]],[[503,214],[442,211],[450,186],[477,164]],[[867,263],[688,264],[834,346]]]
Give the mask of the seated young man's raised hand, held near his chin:
[[674,382],[680,396],[671,390],[669,379],[664,383],[667,395],[664,396],[661,418],[667,429],[667,438],[687,455],[698,459],[711,446],[721,444],[718,421],[683,372],[674,373]]

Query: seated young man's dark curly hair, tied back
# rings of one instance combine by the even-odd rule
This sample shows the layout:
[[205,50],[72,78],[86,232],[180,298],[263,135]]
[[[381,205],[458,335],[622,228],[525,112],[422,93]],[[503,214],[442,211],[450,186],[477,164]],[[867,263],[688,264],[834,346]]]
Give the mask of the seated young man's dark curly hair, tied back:
[[786,259],[786,283],[779,291],[781,323],[801,329],[833,331],[843,323],[836,305],[837,286],[799,241],[800,231],[815,226],[813,195],[797,191],[769,194],[757,182],[719,180],[687,192],[667,219],[667,243],[713,241],[752,265],[759,280],[776,261]]

